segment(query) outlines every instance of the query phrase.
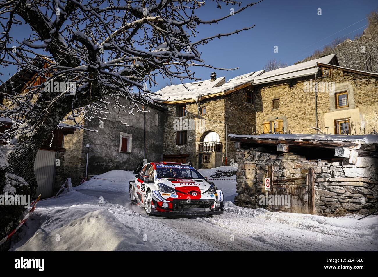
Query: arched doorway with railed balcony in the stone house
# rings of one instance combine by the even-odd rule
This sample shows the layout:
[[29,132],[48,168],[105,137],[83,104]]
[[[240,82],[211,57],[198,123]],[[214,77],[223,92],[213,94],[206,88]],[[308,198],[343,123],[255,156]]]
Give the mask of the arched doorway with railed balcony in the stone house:
[[198,168],[214,168],[223,164],[223,143],[214,130],[208,130],[201,135],[197,143]]

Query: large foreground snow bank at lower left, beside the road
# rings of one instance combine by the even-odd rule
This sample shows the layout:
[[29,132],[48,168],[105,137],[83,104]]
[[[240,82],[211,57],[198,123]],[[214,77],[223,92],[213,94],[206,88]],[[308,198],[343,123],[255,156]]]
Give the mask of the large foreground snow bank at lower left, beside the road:
[[13,251],[151,251],[105,208],[73,205],[37,208]]

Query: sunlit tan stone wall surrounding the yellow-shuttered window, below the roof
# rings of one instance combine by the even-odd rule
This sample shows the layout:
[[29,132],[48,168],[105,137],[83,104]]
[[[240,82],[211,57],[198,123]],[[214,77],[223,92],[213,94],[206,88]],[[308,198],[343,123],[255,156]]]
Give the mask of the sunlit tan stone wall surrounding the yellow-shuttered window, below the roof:
[[[319,73],[321,71],[319,70]],[[329,77],[317,82],[332,82],[334,90],[318,86],[318,126],[324,133],[334,134],[334,120],[351,118],[353,134],[369,134],[378,127],[378,78],[332,69]],[[315,82],[315,75],[254,86],[256,129],[263,133],[263,123],[283,119],[285,130],[291,133],[316,133],[315,92],[304,91],[305,82]],[[349,107],[335,108],[335,92],[348,92]],[[279,98],[279,108],[273,109],[273,99]],[[364,123],[366,122],[366,123]],[[361,125],[361,129],[360,129]],[[326,129],[325,127],[328,127]],[[240,132],[239,132],[240,133]]]

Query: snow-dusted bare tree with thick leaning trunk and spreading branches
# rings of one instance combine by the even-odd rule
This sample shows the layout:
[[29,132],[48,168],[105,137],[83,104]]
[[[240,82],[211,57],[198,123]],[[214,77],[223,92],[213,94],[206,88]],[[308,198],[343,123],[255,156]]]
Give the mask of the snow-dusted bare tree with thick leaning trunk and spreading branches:
[[[261,1],[215,2],[218,8],[236,9],[202,20],[195,13],[205,2],[196,0],[1,1],[0,64],[17,66],[20,78],[32,72],[39,81],[24,87],[11,78],[1,86],[0,117],[13,124],[0,134],[6,142],[0,151],[0,192],[35,193],[37,150],[67,115],[84,128],[81,119],[104,118],[109,107],[132,114],[153,96],[149,87],[158,75],[198,80],[192,67],[223,69],[205,64],[197,47],[254,26],[197,38],[198,26],[216,24]],[[51,82],[60,88],[46,89]],[[62,89],[67,82],[75,89]],[[9,222],[3,215],[0,211],[0,229]]]

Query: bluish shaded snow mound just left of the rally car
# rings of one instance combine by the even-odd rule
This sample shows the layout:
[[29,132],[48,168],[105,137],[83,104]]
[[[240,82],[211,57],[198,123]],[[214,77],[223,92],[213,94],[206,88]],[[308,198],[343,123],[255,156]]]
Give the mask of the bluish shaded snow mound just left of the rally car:
[[75,190],[129,191],[129,183],[134,178],[133,171],[111,170],[92,177],[75,187]]

